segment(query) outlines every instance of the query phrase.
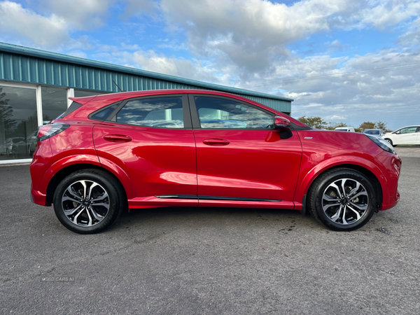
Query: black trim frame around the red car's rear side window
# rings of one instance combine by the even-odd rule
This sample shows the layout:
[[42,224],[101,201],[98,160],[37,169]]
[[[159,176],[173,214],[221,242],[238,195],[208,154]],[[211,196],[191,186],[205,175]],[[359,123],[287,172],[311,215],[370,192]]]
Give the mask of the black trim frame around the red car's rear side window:
[[[128,102],[135,101],[137,99],[154,99],[154,98],[162,98],[162,97],[181,97],[182,101],[182,111],[183,111],[183,128],[165,128],[165,127],[153,127],[153,126],[143,126],[143,125],[130,125],[126,123],[118,123],[117,121],[113,120],[113,118],[116,118],[117,113],[127,104]],[[111,115],[106,118],[104,121],[109,121],[118,125],[126,125],[126,126],[133,126],[133,127],[144,127],[144,128],[153,128],[153,129],[161,129],[161,130],[189,130],[193,129],[193,124],[190,116],[190,105],[188,104],[188,94],[157,94],[157,95],[146,95],[143,97],[132,97],[130,99],[123,99],[120,106],[117,107]],[[115,104],[115,103],[114,103]],[[112,106],[112,104],[110,105]],[[102,109],[105,109],[105,107],[102,107]],[[102,110],[101,109],[101,110]],[[93,114],[93,113],[92,113]],[[90,115],[92,115],[90,114]]]

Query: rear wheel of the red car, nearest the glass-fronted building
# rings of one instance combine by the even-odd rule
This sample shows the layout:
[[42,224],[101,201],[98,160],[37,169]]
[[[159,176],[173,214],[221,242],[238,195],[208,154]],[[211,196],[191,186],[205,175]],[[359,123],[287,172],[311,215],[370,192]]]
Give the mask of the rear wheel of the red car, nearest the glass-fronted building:
[[123,212],[127,200],[122,186],[112,176],[101,170],[84,169],[59,183],[53,203],[62,225],[76,233],[93,234],[109,228]]

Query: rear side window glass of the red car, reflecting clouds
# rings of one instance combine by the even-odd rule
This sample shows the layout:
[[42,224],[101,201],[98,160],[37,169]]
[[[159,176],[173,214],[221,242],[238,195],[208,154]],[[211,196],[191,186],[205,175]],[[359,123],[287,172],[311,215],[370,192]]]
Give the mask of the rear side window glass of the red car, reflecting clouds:
[[182,97],[153,97],[127,102],[117,123],[155,128],[183,128]]

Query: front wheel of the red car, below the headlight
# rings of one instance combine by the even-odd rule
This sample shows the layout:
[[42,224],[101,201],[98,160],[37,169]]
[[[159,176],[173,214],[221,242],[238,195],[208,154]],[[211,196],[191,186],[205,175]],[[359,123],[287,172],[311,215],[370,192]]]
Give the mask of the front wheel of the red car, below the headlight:
[[377,196],[372,183],[362,173],[346,168],[332,169],[312,183],[307,206],[311,215],[327,228],[351,231],[370,221]]

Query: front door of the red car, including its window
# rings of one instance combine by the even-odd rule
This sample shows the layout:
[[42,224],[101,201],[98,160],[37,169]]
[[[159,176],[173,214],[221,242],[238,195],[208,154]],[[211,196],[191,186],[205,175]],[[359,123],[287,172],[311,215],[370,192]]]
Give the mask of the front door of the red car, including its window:
[[302,155],[297,132],[281,139],[273,113],[228,97],[190,95],[190,106],[200,205],[293,208]]

